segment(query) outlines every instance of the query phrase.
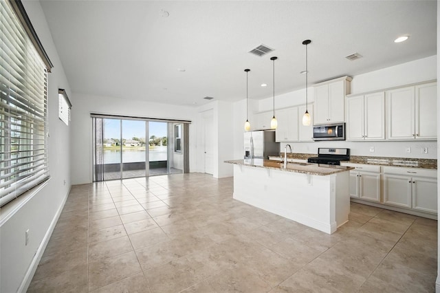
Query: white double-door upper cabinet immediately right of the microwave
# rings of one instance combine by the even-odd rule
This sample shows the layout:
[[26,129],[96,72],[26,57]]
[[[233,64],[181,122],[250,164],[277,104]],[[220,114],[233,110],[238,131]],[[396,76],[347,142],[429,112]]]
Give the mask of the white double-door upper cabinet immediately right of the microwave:
[[347,97],[347,140],[385,140],[385,94]]

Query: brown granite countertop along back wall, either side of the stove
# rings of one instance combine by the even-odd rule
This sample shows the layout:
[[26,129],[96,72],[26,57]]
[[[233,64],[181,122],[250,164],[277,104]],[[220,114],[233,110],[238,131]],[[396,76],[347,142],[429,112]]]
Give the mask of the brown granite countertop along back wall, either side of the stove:
[[[287,153],[287,158],[295,160],[307,160],[308,158],[316,156],[316,154],[312,153]],[[437,169],[437,160],[434,159],[367,157],[363,155],[351,155],[349,161],[341,162],[380,166],[399,166],[406,168]]]

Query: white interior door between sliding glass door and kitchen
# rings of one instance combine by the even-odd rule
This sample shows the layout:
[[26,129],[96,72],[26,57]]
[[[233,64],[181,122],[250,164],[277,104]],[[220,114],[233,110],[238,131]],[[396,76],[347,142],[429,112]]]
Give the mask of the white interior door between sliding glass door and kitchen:
[[203,170],[205,173],[214,174],[214,117],[212,110],[203,113]]

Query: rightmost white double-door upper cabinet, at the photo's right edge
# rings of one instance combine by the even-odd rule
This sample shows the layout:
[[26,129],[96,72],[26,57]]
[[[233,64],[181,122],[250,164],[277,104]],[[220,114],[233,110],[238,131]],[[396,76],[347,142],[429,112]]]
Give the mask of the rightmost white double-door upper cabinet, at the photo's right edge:
[[389,140],[437,140],[437,83],[386,91]]

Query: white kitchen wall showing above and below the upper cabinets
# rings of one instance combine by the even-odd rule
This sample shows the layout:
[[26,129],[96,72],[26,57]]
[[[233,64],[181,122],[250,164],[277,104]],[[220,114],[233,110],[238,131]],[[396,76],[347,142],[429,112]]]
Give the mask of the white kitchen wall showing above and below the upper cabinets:
[[[408,85],[425,80],[437,78],[437,56],[430,56],[416,61],[410,61],[393,67],[376,70],[358,76],[352,76],[351,93],[360,94],[366,91],[376,91],[389,87]],[[314,88],[309,87],[309,102],[314,102]],[[262,111],[271,111],[273,107],[272,97],[259,100],[256,111],[250,112],[250,121],[254,120],[254,113]],[[305,104],[305,89],[298,89],[286,94],[275,97],[275,108],[283,109],[296,105]],[[244,106],[243,106],[244,105]],[[243,136],[245,118],[245,100],[234,103],[234,138]],[[276,111],[275,111],[276,116]],[[243,121],[243,122],[242,122]],[[291,142],[294,153],[317,153],[318,147],[348,147],[351,149],[351,155],[367,155],[375,157],[394,157],[394,158],[426,158],[437,159],[436,141],[414,141],[414,142]],[[281,144],[281,151],[285,144]],[[369,151],[370,146],[374,146],[375,151]],[[411,153],[406,152],[410,147]],[[423,147],[428,147],[428,153],[421,153]],[[241,158],[243,152],[243,141],[238,140],[234,143],[234,158]]]

